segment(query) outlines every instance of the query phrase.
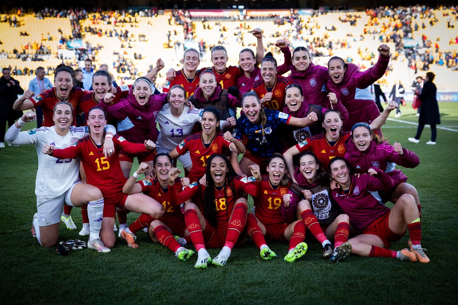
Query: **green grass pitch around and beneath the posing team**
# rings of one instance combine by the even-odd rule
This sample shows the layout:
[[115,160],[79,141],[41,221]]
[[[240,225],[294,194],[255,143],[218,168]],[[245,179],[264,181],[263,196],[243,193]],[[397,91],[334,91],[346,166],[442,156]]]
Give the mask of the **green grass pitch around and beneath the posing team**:
[[[458,103],[439,103],[442,125],[458,131]],[[399,120],[418,122],[410,106]],[[394,113],[390,116],[394,118]],[[225,267],[194,269],[197,255],[179,261],[160,244],[137,233],[138,249],[117,238],[110,253],[72,251],[58,256],[38,245],[30,234],[36,212],[37,152],[32,145],[0,150],[1,286],[5,304],[334,304],[334,303],[455,303],[458,245],[457,172],[458,132],[437,130],[437,145],[425,145],[431,130],[425,127],[420,144],[407,141],[416,126],[387,121],[382,129],[390,143],[420,156],[415,169],[403,169],[417,188],[422,204],[422,245],[429,264],[389,258],[351,256],[338,264],[321,258],[318,243],[309,243],[303,258],[283,260],[288,245],[273,243],[278,255],[264,261],[247,238],[234,248]],[[27,124],[22,130],[33,128]],[[134,163],[133,170],[136,169]],[[250,201],[252,202],[252,201]],[[130,213],[128,223],[138,214]],[[78,227],[60,226],[60,240],[79,238],[81,213],[74,208]],[[116,235],[117,236],[117,235]],[[407,246],[408,236],[391,249]],[[194,249],[192,245],[189,248]],[[210,249],[212,257],[219,249]]]

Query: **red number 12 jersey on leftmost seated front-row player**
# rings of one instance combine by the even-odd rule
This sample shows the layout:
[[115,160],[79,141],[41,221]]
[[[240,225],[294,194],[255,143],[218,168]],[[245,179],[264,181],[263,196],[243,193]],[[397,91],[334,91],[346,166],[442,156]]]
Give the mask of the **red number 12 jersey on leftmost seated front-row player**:
[[[144,179],[137,182],[139,185],[142,186],[142,192],[155,200],[157,200],[160,204],[164,206],[164,216],[159,218],[160,221],[169,223],[169,222],[176,222],[176,221],[185,221],[185,215],[181,213],[180,203],[178,206],[172,206],[169,202],[168,196],[168,189],[165,191],[161,188],[159,181],[157,179]],[[175,186],[176,185],[176,186]],[[175,179],[174,188],[176,190],[181,191],[181,180],[180,178]],[[168,221],[169,220],[169,221]],[[173,230],[173,228],[170,228]],[[175,231],[174,231],[175,232]]]

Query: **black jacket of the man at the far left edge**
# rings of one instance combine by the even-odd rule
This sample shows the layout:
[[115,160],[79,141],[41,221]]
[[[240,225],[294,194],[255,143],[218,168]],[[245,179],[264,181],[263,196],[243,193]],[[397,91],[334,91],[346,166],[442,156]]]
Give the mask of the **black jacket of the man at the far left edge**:
[[[8,86],[11,81],[16,83],[16,86]],[[14,78],[9,80],[5,76],[0,77],[0,119],[15,120],[22,116],[22,111],[13,110],[13,104],[17,99],[18,94],[24,94],[24,90],[19,86],[19,82]]]

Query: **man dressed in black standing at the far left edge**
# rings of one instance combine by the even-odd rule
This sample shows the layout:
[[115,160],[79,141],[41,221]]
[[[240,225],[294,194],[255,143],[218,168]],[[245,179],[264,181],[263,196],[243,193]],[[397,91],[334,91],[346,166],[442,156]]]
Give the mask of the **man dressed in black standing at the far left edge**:
[[14,124],[14,120],[22,116],[22,111],[13,110],[13,104],[18,94],[24,94],[19,82],[11,77],[10,68],[3,68],[3,76],[0,77],[0,148],[5,148],[5,124],[8,128]]

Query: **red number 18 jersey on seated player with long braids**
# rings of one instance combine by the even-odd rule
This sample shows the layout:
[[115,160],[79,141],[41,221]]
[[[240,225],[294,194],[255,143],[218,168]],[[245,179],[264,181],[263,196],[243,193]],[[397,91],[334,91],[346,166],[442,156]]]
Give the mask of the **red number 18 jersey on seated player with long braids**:
[[[231,186],[232,184],[232,186]],[[182,192],[176,189],[176,183],[174,185],[175,191],[170,192],[169,201],[172,205],[180,204],[180,202],[185,202],[191,198],[194,198],[194,202],[199,203],[199,209],[202,211],[202,202],[200,198],[203,198],[205,191],[205,186],[193,182]],[[201,194],[199,194],[199,189]],[[181,190],[181,189],[180,189]],[[246,192],[251,196],[255,195],[256,186],[251,183],[251,180],[248,178],[242,178],[237,176],[232,178],[231,183],[226,182],[226,185],[222,190],[218,190],[216,187],[214,189],[215,194],[215,205],[216,205],[216,222],[217,227],[226,225],[228,222],[232,210],[234,209],[235,202],[242,196],[242,192]]]

